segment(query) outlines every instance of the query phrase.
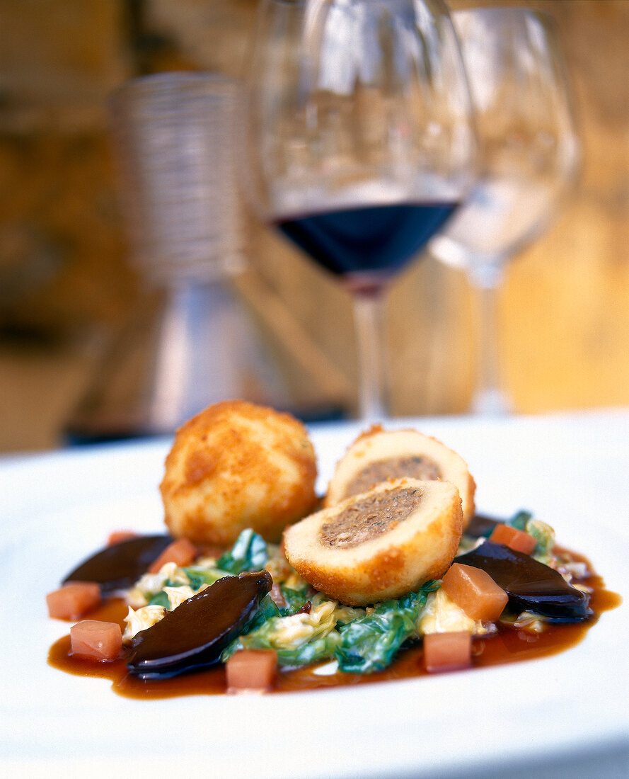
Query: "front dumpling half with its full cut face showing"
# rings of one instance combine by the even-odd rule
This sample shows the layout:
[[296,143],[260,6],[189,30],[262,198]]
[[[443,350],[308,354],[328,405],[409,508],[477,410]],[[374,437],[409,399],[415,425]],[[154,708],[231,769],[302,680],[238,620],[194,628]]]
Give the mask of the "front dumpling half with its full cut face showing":
[[290,565],[315,589],[364,606],[439,579],[461,535],[455,485],[395,479],[286,528],[284,549]]

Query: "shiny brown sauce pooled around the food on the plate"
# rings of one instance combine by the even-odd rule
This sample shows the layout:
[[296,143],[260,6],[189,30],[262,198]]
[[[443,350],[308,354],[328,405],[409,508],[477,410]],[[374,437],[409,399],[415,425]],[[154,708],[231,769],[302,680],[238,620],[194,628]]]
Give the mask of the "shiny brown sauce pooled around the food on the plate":
[[[592,566],[582,555],[571,554],[575,560],[586,562],[589,571],[592,571]],[[599,616],[603,612],[617,608],[621,598],[620,595],[606,590],[603,579],[596,573],[578,580],[578,583],[592,590],[590,601],[592,616],[589,619],[584,622],[546,626],[542,633],[536,634],[499,626],[497,635],[477,637],[473,640],[472,668],[487,668],[492,665],[546,657],[564,652],[580,643],[589,629],[596,624]],[[126,613],[127,606],[124,601],[111,599],[86,617],[120,622],[123,625]],[[128,672],[126,662],[126,657],[110,663],[97,664],[72,657],[69,636],[64,636],[55,642],[48,654],[48,664],[53,668],[73,675],[111,679],[114,692],[128,698],[150,700],[189,695],[216,695],[226,692],[223,666],[175,676],[171,679],[144,681]],[[427,675],[427,672],[423,670],[422,648],[418,643],[416,646],[400,651],[398,657],[385,671],[368,675],[338,673],[319,676],[313,673],[313,668],[299,668],[292,671],[280,669],[272,693],[371,684],[392,679],[414,679],[424,675]]]

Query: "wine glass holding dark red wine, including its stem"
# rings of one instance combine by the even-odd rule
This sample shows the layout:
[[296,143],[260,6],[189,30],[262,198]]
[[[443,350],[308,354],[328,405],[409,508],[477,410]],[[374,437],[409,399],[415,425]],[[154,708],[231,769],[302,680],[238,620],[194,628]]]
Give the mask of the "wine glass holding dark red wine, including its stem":
[[385,415],[386,284],[473,184],[476,139],[441,0],[265,0],[244,155],[266,224],[354,301],[359,413]]

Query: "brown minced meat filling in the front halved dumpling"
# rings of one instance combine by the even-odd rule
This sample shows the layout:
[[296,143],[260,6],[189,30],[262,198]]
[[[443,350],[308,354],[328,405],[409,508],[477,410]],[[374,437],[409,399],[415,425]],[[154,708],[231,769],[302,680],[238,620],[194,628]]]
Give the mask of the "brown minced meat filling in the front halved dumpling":
[[409,487],[370,495],[324,523],[319,531],[320,541],[343,549],[371,541],[406,520],[420,502],[420,490]]

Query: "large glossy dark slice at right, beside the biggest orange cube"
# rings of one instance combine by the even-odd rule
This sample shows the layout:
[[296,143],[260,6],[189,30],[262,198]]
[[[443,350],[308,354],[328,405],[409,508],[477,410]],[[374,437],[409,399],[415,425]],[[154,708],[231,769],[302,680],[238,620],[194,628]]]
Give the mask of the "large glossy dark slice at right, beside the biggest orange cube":
[[509,596],[511,608],[536,612],[563,622],[587,619],[589,595],[572,587],[553,568],[504,544],[484,541],[472,552],[455,558],[466,566],[487,571]]

